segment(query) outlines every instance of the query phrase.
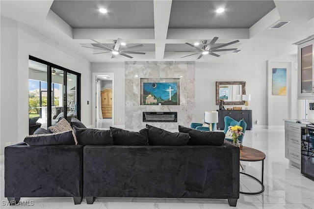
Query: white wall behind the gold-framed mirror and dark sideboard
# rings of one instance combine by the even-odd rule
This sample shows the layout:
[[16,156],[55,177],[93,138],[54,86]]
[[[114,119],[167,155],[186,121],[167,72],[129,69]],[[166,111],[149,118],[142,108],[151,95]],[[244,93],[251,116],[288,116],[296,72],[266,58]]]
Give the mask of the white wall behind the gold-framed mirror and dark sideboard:
[[[246,94],[251,95],[253,126],[267,125],[266,120],[266,62],[198,63],[195,67],[196,122],[204,120],[204,111],[216,110],[216,81],[246,81]],[[233,107],[239,105],[225,105]],[[241,105],[244,108],[244,105]]]

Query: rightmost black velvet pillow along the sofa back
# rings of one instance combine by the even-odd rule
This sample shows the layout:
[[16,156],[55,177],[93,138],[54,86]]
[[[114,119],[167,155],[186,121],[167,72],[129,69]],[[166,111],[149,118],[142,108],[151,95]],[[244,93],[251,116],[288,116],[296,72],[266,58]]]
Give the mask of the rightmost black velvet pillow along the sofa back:
[[179,132],[188,133],[190,140],[187,145],[216,145],[221,146],[225,140],[224,132],[199,131],[184,126],[179,126]]

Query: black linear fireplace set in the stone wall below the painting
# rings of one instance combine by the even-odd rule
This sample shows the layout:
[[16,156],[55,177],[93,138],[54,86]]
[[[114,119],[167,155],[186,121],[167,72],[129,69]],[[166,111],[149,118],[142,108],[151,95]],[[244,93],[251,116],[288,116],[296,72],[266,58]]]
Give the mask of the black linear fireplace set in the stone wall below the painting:
[[143,112],[143,122],[177,122],[177,112]]

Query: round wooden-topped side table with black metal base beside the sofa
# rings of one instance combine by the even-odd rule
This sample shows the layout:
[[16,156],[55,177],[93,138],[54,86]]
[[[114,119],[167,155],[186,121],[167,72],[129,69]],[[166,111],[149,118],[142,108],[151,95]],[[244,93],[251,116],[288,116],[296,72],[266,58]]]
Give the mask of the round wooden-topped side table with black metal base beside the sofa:
[[258,191],[258,192],[241,192],[240,191],[240,194],[252,194],[252,195],[254,195],[254,194],[261,194],[264,191],[265,186],[264,186],[263,182],[264,182],[264,159],[265,159],[265,157],[266,156],[263,152],[256,150],[256,149],[253,149],[253,148],[250,148],[250,147],[243,146],[243,148],[240,150],[240,160],[242,160],[242,161],[261,161],[262,160],[262,181],[260,181],[259,179],[257,179],[256,177],[254,177],[252,175],[240,172],[240,174],[244,174],[244,175],[254,179],[258,183],[260,183],[262,186],[262,190]]

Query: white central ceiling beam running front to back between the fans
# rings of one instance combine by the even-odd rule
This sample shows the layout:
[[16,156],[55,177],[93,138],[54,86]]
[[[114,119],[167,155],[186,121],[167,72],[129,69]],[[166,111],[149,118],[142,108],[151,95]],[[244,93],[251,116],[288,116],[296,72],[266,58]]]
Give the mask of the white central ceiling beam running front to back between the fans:
[[155,51],[157,60],[162,60],[164,56],[171,4],[172,0],[154,0]]

